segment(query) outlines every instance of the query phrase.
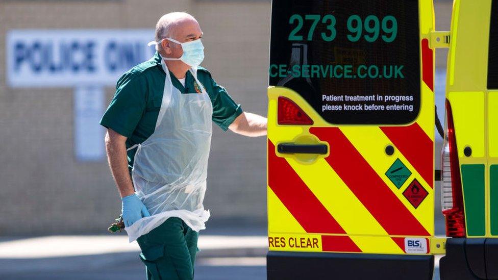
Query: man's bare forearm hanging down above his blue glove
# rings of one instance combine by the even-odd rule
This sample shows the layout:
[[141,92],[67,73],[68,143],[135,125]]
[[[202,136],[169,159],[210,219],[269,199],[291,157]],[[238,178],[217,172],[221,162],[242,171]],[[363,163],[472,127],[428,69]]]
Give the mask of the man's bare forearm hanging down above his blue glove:
[[135,193],[128,171],[126,137],[109,129],[106,134],[106,150],[109,167],[121,197]]

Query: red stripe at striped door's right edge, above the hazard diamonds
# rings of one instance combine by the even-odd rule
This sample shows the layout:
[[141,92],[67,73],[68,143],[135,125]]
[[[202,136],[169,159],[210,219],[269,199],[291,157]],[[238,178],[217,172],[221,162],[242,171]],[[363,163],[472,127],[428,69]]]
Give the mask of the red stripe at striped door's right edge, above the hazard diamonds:
[[434,188],[434,142],[418,123],[408,126],[382,126],[381,130],[417,170],[426,183]]

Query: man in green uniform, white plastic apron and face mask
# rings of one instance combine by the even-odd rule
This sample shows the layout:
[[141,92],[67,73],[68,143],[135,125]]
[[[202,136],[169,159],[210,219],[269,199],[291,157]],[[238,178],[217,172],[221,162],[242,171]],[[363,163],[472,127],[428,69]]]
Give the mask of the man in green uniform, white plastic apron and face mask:
[[122,75],[100,122],[125,230],[140,245],[147,279],[193,278],[198,231],[209,217],[202,201],[211,122],[266,135],[266,118],[243,112],[199,66],[202,35],[189,14],[162,16],[158,52]]

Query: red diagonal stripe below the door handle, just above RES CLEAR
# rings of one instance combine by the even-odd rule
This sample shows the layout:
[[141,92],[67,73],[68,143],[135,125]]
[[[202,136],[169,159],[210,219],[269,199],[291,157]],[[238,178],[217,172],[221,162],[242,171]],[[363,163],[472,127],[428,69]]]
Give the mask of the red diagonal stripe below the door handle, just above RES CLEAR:
[[268,140],[268,185],[307,233],[345,234],[294,169]]

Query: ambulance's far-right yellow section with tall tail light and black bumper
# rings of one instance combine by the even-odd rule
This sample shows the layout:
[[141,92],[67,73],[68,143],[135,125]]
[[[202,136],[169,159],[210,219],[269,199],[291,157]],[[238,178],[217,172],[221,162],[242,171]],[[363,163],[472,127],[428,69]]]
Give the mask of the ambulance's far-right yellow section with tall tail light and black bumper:
[[441,279],[498,278],[496,46],[498,1],[455,0],[441,185],[446,235],[452,238],[439,262]]

